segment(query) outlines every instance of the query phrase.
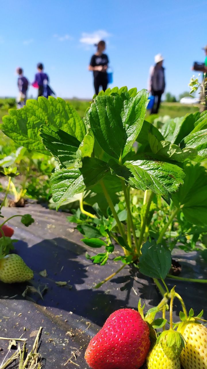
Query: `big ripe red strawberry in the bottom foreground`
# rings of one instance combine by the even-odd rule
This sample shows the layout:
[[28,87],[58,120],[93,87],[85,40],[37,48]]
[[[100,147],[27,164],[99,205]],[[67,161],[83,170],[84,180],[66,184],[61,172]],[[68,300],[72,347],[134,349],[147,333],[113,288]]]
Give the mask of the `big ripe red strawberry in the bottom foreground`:
[[138,311],[116,310],[91,339],[85,360],[92,369],[138,369],[150,349],[149,335]]

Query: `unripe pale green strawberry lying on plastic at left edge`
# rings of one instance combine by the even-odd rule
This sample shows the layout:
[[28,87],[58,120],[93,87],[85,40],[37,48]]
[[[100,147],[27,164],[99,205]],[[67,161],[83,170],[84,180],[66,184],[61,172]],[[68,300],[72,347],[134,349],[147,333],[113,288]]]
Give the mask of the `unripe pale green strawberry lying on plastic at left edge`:
[[25,282],[32,279],[33,276],[32,270],[19,255],[9,254],[0,259],[0,280],[2,282]]

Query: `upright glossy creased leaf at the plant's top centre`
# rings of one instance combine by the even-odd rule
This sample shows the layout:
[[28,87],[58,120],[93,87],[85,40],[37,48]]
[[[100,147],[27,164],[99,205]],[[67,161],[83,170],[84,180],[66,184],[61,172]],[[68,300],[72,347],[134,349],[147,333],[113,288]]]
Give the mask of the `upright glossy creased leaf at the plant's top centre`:
[[116,159],[130,151],[141,130],[146,107],[145,90],[130,97],[124,87],[119,93],[99,93],[95,97],[88,110],[88,120],[103,151]]

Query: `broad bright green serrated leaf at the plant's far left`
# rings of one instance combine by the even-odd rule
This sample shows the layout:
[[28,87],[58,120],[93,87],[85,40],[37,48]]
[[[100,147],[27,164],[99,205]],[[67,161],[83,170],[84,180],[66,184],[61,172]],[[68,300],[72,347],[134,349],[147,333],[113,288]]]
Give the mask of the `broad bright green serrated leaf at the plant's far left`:
[[69,103],[57,97],[39,97],[27,100],[23,109],[10,109],[3,117],[1,130],[21,146],[49,155],[41,142],[39,129],[42,124],[51,124],[82,141],[85,136],[85,124],[80,115]]

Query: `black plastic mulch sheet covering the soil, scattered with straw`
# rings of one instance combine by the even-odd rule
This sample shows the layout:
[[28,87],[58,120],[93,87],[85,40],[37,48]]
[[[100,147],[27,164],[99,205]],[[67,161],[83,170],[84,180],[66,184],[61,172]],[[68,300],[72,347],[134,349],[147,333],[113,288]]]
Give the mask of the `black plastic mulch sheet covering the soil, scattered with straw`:
[[[34,270],[34,280],[28,284],[36,289],[47,289],[42,300],[35,293],[22,296],[27,283],[0,283],[0,336],[18,338],[22,335],[28,338],[29,349],[42,326],[39,352],[46,369],[88,369],[84,360],[85,349],[90,337],[109,314],[118,308],[137,308],[140,298],[147,310],[156,306],[161,296],[150,278],[130,267],[124,268],[100,289],[93,289],[95,283],[115,272],[120,264],[110,261],[101,267],[87,260],[86,246],[80,241],[80,234],[74,231],[74,225],[67,222],[67,214],[56,213],[38,204],[4,208],[3,211],[6,217],[25,213],[30,213],[35,219],[28,228],[18,217],[9,222],[15,229],[14,237],[21,240],[17,242],[15,252]],[[93,255],[96,250],[88,248],[87,251]],[[207,279],[206,265],[196,252],[185,254],[177,250],[175,254],[175,259],[182,264],[181,276]],[[45,269],[47,277],[42,277],[39,272]],[[67,282],[67,285],[62,287],[55,282]],[[167,284],[169,287],[176,284],[188,310],[193,307],[199,313],[206,308],[205,284],[175,283],[172,279],[167,279]],[[179,311],[180,304],[176,302],[175,320]],[[0,340],[0,348],[3,349],[0,363],[7,353],[7,346],[7,341]],[[72,362],[63,366],[69,358]]]

